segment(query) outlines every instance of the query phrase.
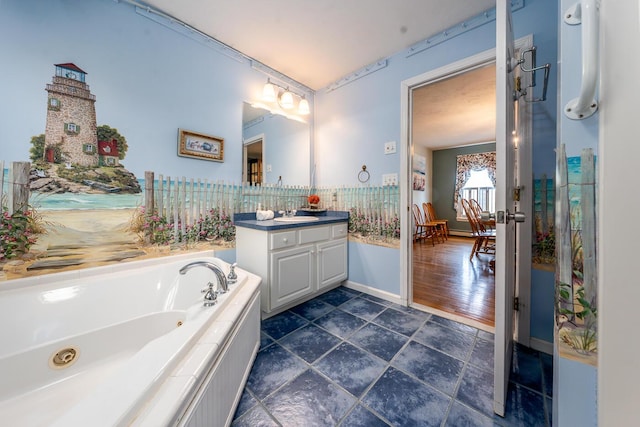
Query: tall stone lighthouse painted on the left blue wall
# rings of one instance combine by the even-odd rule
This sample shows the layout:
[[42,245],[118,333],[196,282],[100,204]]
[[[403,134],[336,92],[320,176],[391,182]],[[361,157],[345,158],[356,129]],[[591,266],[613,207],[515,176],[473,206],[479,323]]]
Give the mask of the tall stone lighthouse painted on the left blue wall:
[[96,97],[85,83],[87,73],[72,63],[55,67],[53,81],[46,87],[45,160],[98,166]]

